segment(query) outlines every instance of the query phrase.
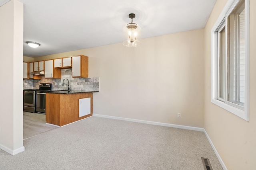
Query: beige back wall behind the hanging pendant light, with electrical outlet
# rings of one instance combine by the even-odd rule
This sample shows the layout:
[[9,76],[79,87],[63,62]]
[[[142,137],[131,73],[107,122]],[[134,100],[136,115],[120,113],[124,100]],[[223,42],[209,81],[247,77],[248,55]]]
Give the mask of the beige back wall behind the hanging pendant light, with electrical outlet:
[[[94,113],[204,126],[204,29],[35,58],[89,57],[89,76],[100,77]],[[177,113],[181,118],[177,118]]]

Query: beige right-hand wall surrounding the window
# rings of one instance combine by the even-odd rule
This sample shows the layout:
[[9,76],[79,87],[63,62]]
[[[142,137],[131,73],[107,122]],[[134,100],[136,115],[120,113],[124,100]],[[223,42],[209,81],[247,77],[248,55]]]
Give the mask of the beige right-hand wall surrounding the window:
[[250,121],[210,102],[210,31],[227,0],[218,0],[205,27],[204,127],[229,170],[256,167],[256,1],[250,0]]

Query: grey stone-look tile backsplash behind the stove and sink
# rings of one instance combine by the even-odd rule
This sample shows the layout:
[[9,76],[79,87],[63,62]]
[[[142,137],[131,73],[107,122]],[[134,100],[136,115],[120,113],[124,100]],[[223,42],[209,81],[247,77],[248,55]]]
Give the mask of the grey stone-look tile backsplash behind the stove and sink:
[[24,79],[23,89],[39,89],[40,83],[52,83],[52,90],[67,90],[67,80],[64,80],[64,86],[62,86],[63,79],[69,80],[70,90],[95,90],[99,91],[99,78],[74,78],[72,77],[72,69],[62,69],[61,79],[44,78],[41,80]]

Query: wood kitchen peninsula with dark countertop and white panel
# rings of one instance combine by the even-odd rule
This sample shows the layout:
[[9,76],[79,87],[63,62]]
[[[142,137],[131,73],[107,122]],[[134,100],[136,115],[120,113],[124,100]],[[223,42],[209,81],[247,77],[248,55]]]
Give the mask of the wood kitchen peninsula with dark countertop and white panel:
[[93,92],[98,91],[46,92],[46,123],[63,126],[92,116]]

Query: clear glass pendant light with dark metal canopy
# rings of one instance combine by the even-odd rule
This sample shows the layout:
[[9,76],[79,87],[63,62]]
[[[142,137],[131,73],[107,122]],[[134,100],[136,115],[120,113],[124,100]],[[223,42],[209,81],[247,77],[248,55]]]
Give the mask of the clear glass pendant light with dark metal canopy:
[[[133,19],[135,18],[135,14],[129,14],[129,18]],[[123,44],[126,47],[138,47],[141,45],[141,42],[139,40],[140,37],[140,26],[136,23],[128,23],[124,27],[124,41]]]

